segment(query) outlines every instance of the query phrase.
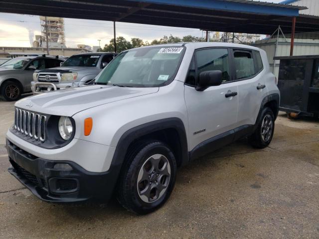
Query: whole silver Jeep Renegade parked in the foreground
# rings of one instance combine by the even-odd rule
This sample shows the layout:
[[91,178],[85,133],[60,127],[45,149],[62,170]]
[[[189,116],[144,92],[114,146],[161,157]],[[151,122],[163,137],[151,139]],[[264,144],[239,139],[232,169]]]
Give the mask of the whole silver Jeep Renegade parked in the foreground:
[[125,208],[150,213],[168,199],[177,167],[242,137],[269,145],[279,98],[266,52],[256,47],[127,50],[94,85],[15,104],[8,171],[44,201],[116,193]]

